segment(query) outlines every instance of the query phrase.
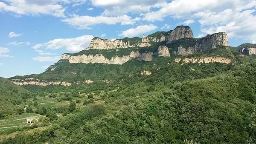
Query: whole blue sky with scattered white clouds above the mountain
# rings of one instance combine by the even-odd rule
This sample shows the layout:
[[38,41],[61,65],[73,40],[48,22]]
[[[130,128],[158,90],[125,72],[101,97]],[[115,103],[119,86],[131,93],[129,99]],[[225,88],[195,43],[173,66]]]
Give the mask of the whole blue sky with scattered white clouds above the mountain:
[[176,26],[256,43],[256,0],[0,0],[0,77],[44,72],[93,37],[142,37]]

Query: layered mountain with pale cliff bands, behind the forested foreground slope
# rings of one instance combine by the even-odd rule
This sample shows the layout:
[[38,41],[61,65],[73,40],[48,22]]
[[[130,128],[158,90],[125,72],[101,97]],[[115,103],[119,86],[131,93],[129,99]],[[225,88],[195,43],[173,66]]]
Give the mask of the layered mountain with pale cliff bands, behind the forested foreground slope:
[[[94,37],[87,49],[77,53],[66,53],[61,59],[39,74],[15,76],[10,78],[15,84],[31,87],[74,84],[89,84],[91,82],[120,81],[143,71],[155,71],[166,63],[175,63],[180,56],[205,55],[216,47],[228,47],[227,34],[224,32],[207,35],[200,39],[193,38],[189,26],[177,26],[168,32],[155,32],[151,35],[117,40]],[[207,57],[209,62],[219,62],[229,49],[216,49],[214,57]],[[202,59],[204,61],[204,59]],[[161,62],[160,62],[161,61]],[[200,61],[200,60],[199,60]],[[198,61],[198,62],[199,62]]]

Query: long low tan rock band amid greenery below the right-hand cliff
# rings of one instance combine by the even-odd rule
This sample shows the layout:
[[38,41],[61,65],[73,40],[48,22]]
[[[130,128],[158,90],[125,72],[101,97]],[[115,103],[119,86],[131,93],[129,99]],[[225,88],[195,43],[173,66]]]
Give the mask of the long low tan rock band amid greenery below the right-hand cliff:
[[223,57],[175,58],[177,63],[231,63],[231,59]]

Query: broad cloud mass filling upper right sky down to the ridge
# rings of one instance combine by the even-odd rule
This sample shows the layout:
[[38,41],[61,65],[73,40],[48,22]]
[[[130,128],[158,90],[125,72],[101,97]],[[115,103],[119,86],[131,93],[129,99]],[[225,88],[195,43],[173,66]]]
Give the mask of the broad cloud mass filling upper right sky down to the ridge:
[[[195,20],[201,24],[201,37],[215,32],[226,32],[250,42],[256,40],[256,0],[172,0],[160,9],[142,14],[143,20],[156,21],[165,17],[186,18],[183,24]],[[180,9],[182,7],[182,9]]]

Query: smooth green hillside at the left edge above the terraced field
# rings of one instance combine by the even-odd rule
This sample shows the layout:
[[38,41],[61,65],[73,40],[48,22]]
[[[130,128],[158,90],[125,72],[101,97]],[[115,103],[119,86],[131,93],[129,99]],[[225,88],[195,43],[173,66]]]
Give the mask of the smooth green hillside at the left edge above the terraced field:
[[29,95],[29,91],[13,84],[6,78],[0,77],[0,118],[14,113],[14,109],[21,104],[23,98]]

